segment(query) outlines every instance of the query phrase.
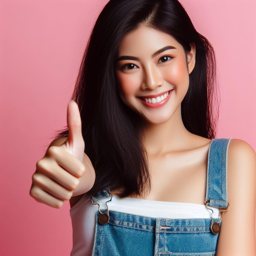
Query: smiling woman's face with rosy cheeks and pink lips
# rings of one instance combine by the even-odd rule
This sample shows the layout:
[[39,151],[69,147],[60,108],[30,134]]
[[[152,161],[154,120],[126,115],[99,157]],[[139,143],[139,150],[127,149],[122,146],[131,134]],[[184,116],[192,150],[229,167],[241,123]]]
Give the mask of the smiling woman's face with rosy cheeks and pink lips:
[[163,124],[189,88],[195,49],[185,53],[169,34],[141,26],[119,46],[117,79],[122,101],[150,124]]

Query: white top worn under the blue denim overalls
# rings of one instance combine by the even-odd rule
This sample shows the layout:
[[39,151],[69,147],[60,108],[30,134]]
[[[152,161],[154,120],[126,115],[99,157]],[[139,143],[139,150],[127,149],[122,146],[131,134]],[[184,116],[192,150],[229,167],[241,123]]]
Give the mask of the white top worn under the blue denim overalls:
[[[101,209],[106,209],[106,198],[97,201]],[[108,202],[111,211],[119,211],[153,218],[187,219],[211,218],[204,204],[191,204],[179,202],[150,201],[136,198],[112,197]],[[219,209],[213,208],[213,217],[218,218]],[[97,205],[93,205],[91,198],[83,196],[79,202],[70,209],[73,228],[72,256],[92,255],[94,242],[94,228]]]

